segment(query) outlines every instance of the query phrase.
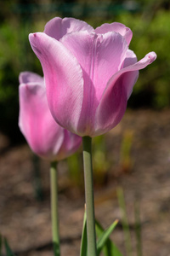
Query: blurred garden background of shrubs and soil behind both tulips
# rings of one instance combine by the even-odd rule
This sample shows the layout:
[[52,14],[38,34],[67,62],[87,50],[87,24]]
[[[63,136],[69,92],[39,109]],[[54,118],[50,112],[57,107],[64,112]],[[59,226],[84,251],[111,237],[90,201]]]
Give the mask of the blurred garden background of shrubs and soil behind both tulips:
[[[113,218],[120,219],[112,237],[125,255],[130,256],[126,254],[117,187],[124,190],[132,255],[141,256],[138,253],[143,250],[147,256],[167,256],[170,253],[169,0],[0,1],[0,233],[7,236],[18,255],[52,255],[49,165],[31,153],[18,128],[18,77],[22,71],[42,75],[28,34],[42,32],[47,21],[55,16],[85,20],[94,27],[121,22],[133,31],[130,49],[138,59],[150,51],[157,54],[156,61],[140,71],[122,123],[94,139],[94,185],[96,215],[105,227]],[[81,150],[59,163],[59,196],[63,254],[77,255],[84,203]],[[135,235],[136,202],[140,208],[142,238]]]

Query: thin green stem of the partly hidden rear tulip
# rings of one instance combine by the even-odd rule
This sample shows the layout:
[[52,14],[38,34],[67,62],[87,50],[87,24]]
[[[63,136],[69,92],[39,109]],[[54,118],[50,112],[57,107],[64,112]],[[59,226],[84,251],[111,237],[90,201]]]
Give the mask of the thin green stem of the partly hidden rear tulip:
[[52,218],[52,234],[54,245],[54,256],[60,255],[59,250],[59,213],[58,213],[58,175],[57,163],[52,162],[50,167],[51,180],[51,218]]

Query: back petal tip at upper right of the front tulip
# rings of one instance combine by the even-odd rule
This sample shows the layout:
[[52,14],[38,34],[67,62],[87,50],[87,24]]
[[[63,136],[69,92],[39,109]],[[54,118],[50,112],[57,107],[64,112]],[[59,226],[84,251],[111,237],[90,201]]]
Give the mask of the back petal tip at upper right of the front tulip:
[[98,34],[105,34],[107,32],[117,32],[120,33],[122,35],[122,37],[124,37],[127,41],[127,44],[130,44],[130,41],[133,37],[133,32],[131,31],[130,28],[128,28],[127,26],[123,25],[122,23],[118,23],[118,22],[113,22],[111,24],[109,23],[105,23],[101,26],[98,26],[94,32],[98,33]]

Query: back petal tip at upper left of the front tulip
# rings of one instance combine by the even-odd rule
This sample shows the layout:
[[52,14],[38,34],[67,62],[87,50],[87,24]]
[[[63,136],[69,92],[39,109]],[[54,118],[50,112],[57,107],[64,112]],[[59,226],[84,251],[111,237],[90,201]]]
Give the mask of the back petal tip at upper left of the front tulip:
[[49,20],[44,28],[44,32],[49,37],[57,40],[63,38],[67,33],[79,31],[93,32],[94,28],[82,20],[77,20],[74,18],[61,19],[59,17]]

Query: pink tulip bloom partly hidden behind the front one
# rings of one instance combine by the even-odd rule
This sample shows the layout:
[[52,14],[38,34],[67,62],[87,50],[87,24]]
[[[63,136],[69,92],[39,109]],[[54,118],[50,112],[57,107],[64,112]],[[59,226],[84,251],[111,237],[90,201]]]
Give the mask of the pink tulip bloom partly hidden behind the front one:
[[74,153],[81,137],[66,131],[52,117],[44,79],[36,73],[20,73],[20,131],[32,151],[47,160],[61,160]]

